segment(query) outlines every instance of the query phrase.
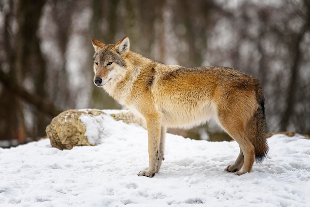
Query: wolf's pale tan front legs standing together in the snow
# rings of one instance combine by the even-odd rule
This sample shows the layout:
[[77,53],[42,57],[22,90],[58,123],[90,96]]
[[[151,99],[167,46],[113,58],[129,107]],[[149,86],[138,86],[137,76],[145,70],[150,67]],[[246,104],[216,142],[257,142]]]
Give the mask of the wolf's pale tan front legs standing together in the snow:
[[148,130],[149,167],[140,171],[139,176],[153,177],[159,172],[164,159],[165,127],[160,126],[160,117],[146,118]]

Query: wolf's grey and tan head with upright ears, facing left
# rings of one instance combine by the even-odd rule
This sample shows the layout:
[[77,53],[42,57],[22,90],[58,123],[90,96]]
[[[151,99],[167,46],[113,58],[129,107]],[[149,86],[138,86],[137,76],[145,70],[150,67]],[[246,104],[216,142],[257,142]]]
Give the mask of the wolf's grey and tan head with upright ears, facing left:
[[115,44],[105,45],[99,40],[92,39],[95,49],[93,58],[94,84],[103,87],[109,81],[114,81],[124,74],[126,62],[124,57],[129,52],[129,38],[124,37]]

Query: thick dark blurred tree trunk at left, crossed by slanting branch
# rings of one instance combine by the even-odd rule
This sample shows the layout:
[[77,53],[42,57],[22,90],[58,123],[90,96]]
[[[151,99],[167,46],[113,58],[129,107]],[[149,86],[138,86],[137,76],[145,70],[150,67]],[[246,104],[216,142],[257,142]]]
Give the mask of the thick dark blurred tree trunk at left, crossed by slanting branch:
[[[16,72],[18,83],[23,83],[27,76],[31,76],[34,83],[34,92],[41,98],[46,97],[45,60],[40,49],[40,40],[36,35],[41,11],[45,0],[20,0],[17,11],[17,23],[19,31],[16,38]],[[32,137],[45,135],[45,127],[48,120],[44,114],[34,110],[34,128]]]

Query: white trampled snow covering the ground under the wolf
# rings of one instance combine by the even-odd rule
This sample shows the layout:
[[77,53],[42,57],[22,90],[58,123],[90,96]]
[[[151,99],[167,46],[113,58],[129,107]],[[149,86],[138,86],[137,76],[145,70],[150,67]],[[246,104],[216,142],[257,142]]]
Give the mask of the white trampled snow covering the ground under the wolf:
[[161,170],[148,178],[137,176],[148,165],[147,131],[103,118],[81,118],[87,132],[103,132],[97,146],[61,151],[43,139],[0,148],[0,206],[310,206],[310,140],[300,135],[269,138],[266,160],[236,176],[224,171],[239,153],[236,142],[167,134]]

